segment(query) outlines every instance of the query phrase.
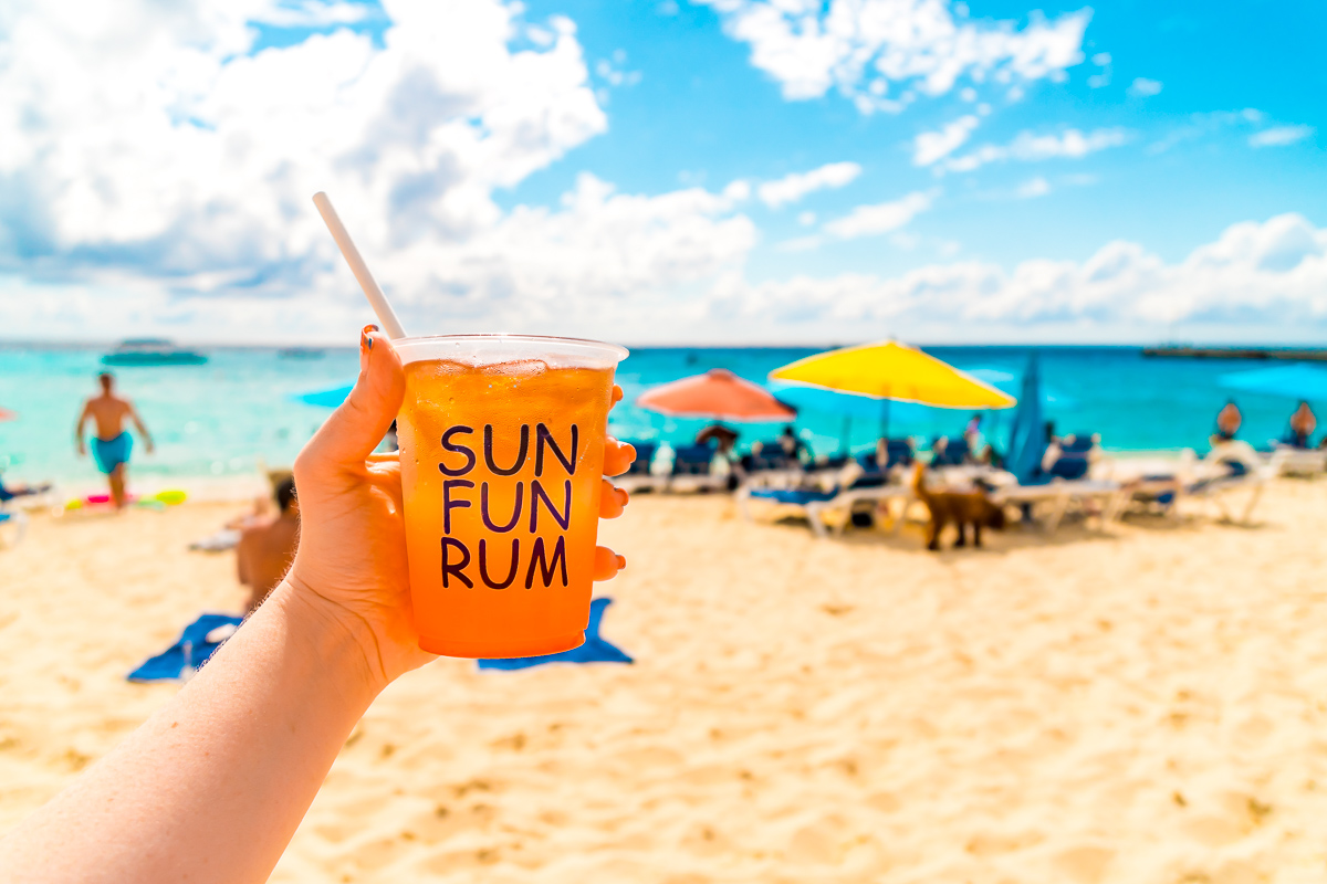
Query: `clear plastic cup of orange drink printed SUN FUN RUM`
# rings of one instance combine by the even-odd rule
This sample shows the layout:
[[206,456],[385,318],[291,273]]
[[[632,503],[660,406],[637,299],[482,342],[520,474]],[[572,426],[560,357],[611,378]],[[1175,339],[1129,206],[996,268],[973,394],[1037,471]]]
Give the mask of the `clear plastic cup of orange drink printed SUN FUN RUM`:
[[592,341],[395,342],[410,594],[419,647],[525,657],[579,647],[589,600],[613,370]]

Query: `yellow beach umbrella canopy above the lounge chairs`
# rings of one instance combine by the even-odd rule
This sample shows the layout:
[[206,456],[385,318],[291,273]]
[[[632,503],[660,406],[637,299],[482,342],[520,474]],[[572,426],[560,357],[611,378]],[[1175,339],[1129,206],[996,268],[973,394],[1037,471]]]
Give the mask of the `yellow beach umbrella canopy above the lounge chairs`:
[[940,408],[1010,408],[1018,404],[1009,394],[896,341],[817,353],[775,368],[770,379]]

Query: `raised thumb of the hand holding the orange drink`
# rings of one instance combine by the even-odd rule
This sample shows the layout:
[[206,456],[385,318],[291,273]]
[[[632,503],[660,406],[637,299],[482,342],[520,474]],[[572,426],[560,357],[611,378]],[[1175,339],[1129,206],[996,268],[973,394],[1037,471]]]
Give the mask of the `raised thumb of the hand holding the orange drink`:
[[377,326],[365,326],[354,388],[300,452],[296,473],[362,468],[397,419],[405,391],[405,370],[391,341]]

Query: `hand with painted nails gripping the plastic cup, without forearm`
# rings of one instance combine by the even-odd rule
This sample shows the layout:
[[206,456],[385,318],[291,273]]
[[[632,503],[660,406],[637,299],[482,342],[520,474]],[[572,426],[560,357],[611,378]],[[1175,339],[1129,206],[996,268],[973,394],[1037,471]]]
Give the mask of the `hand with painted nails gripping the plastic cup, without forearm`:
[[[366,326],[354,388],[295,461],[300,549],[285,583],[329,628],[356,636],[378,689],[433,659],[419,649],[411,616],[401,463],[395,453],[373,453],[403,396],[399,355],[377,326]],[[613,402],[621,396],[614,387]],[[634,459],[630,445],[609,439],[604,472],[622,473]],[[601,516],[621,516],[626,500],[625,490],[605,488]],[[610,579],[625,565],[598,547],[594,579]]]

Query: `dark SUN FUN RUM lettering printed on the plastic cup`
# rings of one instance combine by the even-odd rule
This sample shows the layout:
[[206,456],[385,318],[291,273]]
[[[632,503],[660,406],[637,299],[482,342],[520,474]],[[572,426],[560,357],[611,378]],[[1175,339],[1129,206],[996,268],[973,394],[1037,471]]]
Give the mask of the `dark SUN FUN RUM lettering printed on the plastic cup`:
[[[468,445],[453,441],[458,436],[474,433],[472,427],[450,427],[447,432],[442,435],[442,448],[451,455],[460,455],[464,463],[459,467],[449,467],[446,463],[439,463],[438,469],[442,470],[443,476],[447,478],[442,484],[442,584],[443,587],[450,586],[450,579],[456,578],[467,587],[474,588],[475,582],[466,575],[464,569],[470,566],[471,559],[478,561],[479,565],[479,579],[484,586],[492,590],[506,590],[516,579],[516,574],[520,570],[520,538],[511,538],[511,557],[510,565],[507,566],[507,574],[495,579],[496,575],[490,574],[490,549],[488,541],[480,538],[478,555],[471,555],[470,547],[462,541],[451,537],[451,512],[455,509],[470,509],[475,505],[474,497],[467,497],[466,492],[474,492],[475,482],[470,478],[460,478],[468,474],[479,463],[479,457],[475,455],[474,449]],[[571,428],[571,457],[565,456],[561,447],[553,439],[553,433],[544,424],[537,424],[535,427],[535,478],[529,481],[528,493],[524,480],[516,482],[516,497],[512,505],[511,514],[503,516],[502,518],[495,518],[495,514],[490,506],[490,485],[487,481],[479,484],[479,517],[483,525],[490,531],[498,534],[508,534],[516,531],[522,525],[527,526],[529,534],[535,534],[533,543],[529,546],[529,565],[525,567],[525,588],[532,588],[535,586],[535,573],[539,571],[543,586],[552,586],[553,577],[561,577],[563,586],[568,584],[567,579],[567,535],[559,534],[557,541],[552,545],[552,554],[548,553],[548,546],[544,537],[539,535],[539,527],[541,524],[540,509],[544,510],[545,518],[543,520],[544,530],[548,530],[548,520],[552,520],[563,531],[568,530],[572,522],[572,480],[571,476],[576,474],[576,451],[580,441],[580,429],[576,424]],[[484,427],[484,467],[494,476],[515,476],[519,473],[528,460],[529,455],[529,424],[522,424],[520,427],[520,451],[516,455],[516,460],[511,467],[499,467],[494,459],[494,428],[492,424]],[[552,455],[545,459],[545,453]],[[552,476],[544,476],[544,468],[548,467],[549,473],[561,470],[565,473],[567,478],[560,482]],[[560,500],[559,500],[560,498]],[[543,506],[540,506],[543,505]],[[528,539],[528,538],[527,538]],[[500,557],[499,557],[500,558]],[[500,570],[500,569],[499,569]]]

